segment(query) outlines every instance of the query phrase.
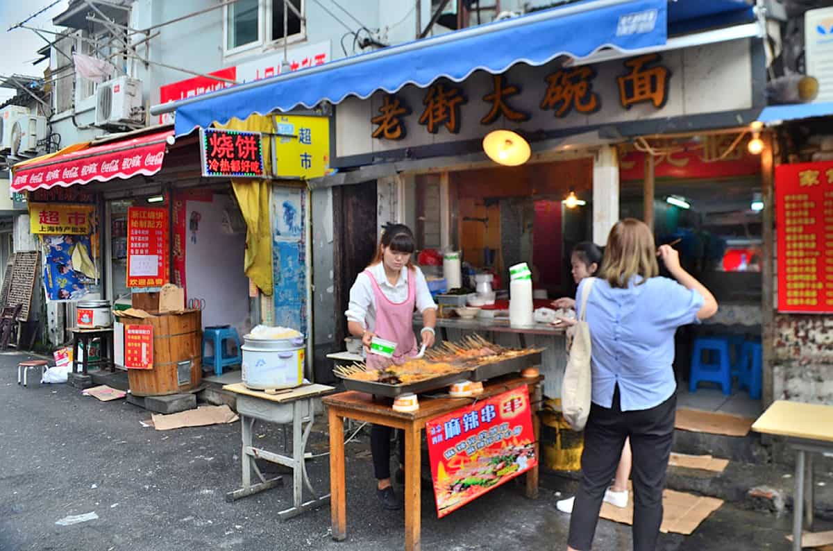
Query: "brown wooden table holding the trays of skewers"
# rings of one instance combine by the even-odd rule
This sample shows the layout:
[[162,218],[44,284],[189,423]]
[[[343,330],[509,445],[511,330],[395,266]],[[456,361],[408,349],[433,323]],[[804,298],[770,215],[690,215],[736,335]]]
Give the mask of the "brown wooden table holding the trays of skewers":
[[[532,410],[541,407],[541,380],[543,377],[523,378],[507,375],[485,383],[482,400],[521,385],[529,387]],[[332,517],[332,538],[342,541],[347,538],[347,494],[344,479],[344,419],[356,419],[373,424],[382,424],[405,431],[405,549],[420,549],[421,525],[421,432],[427,421],[440,415],[459,410],[471,404],[469,398],[420,397],[420,409],[412,413],[394,411],[391,402],[374,400],[372,395],[362,392],[342,392],[322,400],[327,405],[330,417],[330,514]],[[535,455],[539,456],[538,434],[540,422],[532,415],[535,432]],[[538,495],[538,467],[526,473],[526,497],[535,499]]]

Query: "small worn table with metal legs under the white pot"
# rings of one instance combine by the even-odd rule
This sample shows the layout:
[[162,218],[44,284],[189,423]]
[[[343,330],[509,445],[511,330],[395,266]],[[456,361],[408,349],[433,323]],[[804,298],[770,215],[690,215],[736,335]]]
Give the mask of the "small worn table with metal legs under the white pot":
[[[240,415],[242,429],[242,488],[226,494],[227,501],[235,501],[248,495],[257,494],[281,484],[282,477],[267,480],[257,468],[255,459],[265,459],[292,469],[292,507],[278,513],[281,519],[291,519],[330,500],[330,494],[319,496],[312,488],[307,476],[307,439],[312,432],[315,421],[315,404],[317,397],[326,395],[333,390],[327,385],[303,385],[296,389],[278,391],[270,395],[262,390],[252,390],[243,383],[225,385],[223,390],[229,390],[237,395],[237,414]],[[252,433],[256,420],[275,424],[292,424],[292,457],[276,454],[267,449],[256,448],[252,445]],[[304,420],[307,426],[303,426]],[[260,483],[252,484],[252,469],[261,479]],[[304,502],[304,485],[310,490],[314,499]]]

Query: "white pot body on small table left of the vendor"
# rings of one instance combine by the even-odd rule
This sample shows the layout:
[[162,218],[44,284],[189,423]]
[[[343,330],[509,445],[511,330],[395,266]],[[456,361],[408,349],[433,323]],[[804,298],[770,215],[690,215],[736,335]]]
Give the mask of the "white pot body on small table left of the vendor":
[[256,339],[243,335],[242,380],[254,390],[292,389],[304,382],[303,337]]

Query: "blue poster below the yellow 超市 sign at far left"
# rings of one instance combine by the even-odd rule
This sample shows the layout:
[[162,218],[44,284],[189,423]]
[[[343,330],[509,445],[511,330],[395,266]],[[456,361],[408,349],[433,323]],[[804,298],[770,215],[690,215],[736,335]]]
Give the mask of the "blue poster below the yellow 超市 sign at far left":
[[47,300],[80,300],[101,293],[90,236],[41,236]]

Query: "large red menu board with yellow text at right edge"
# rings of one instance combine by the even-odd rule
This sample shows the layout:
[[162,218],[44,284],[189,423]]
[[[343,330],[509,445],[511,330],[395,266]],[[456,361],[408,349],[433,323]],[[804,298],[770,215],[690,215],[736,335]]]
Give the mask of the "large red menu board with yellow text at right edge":
[[778,310],[833,312],[833,162],[776,167]]

